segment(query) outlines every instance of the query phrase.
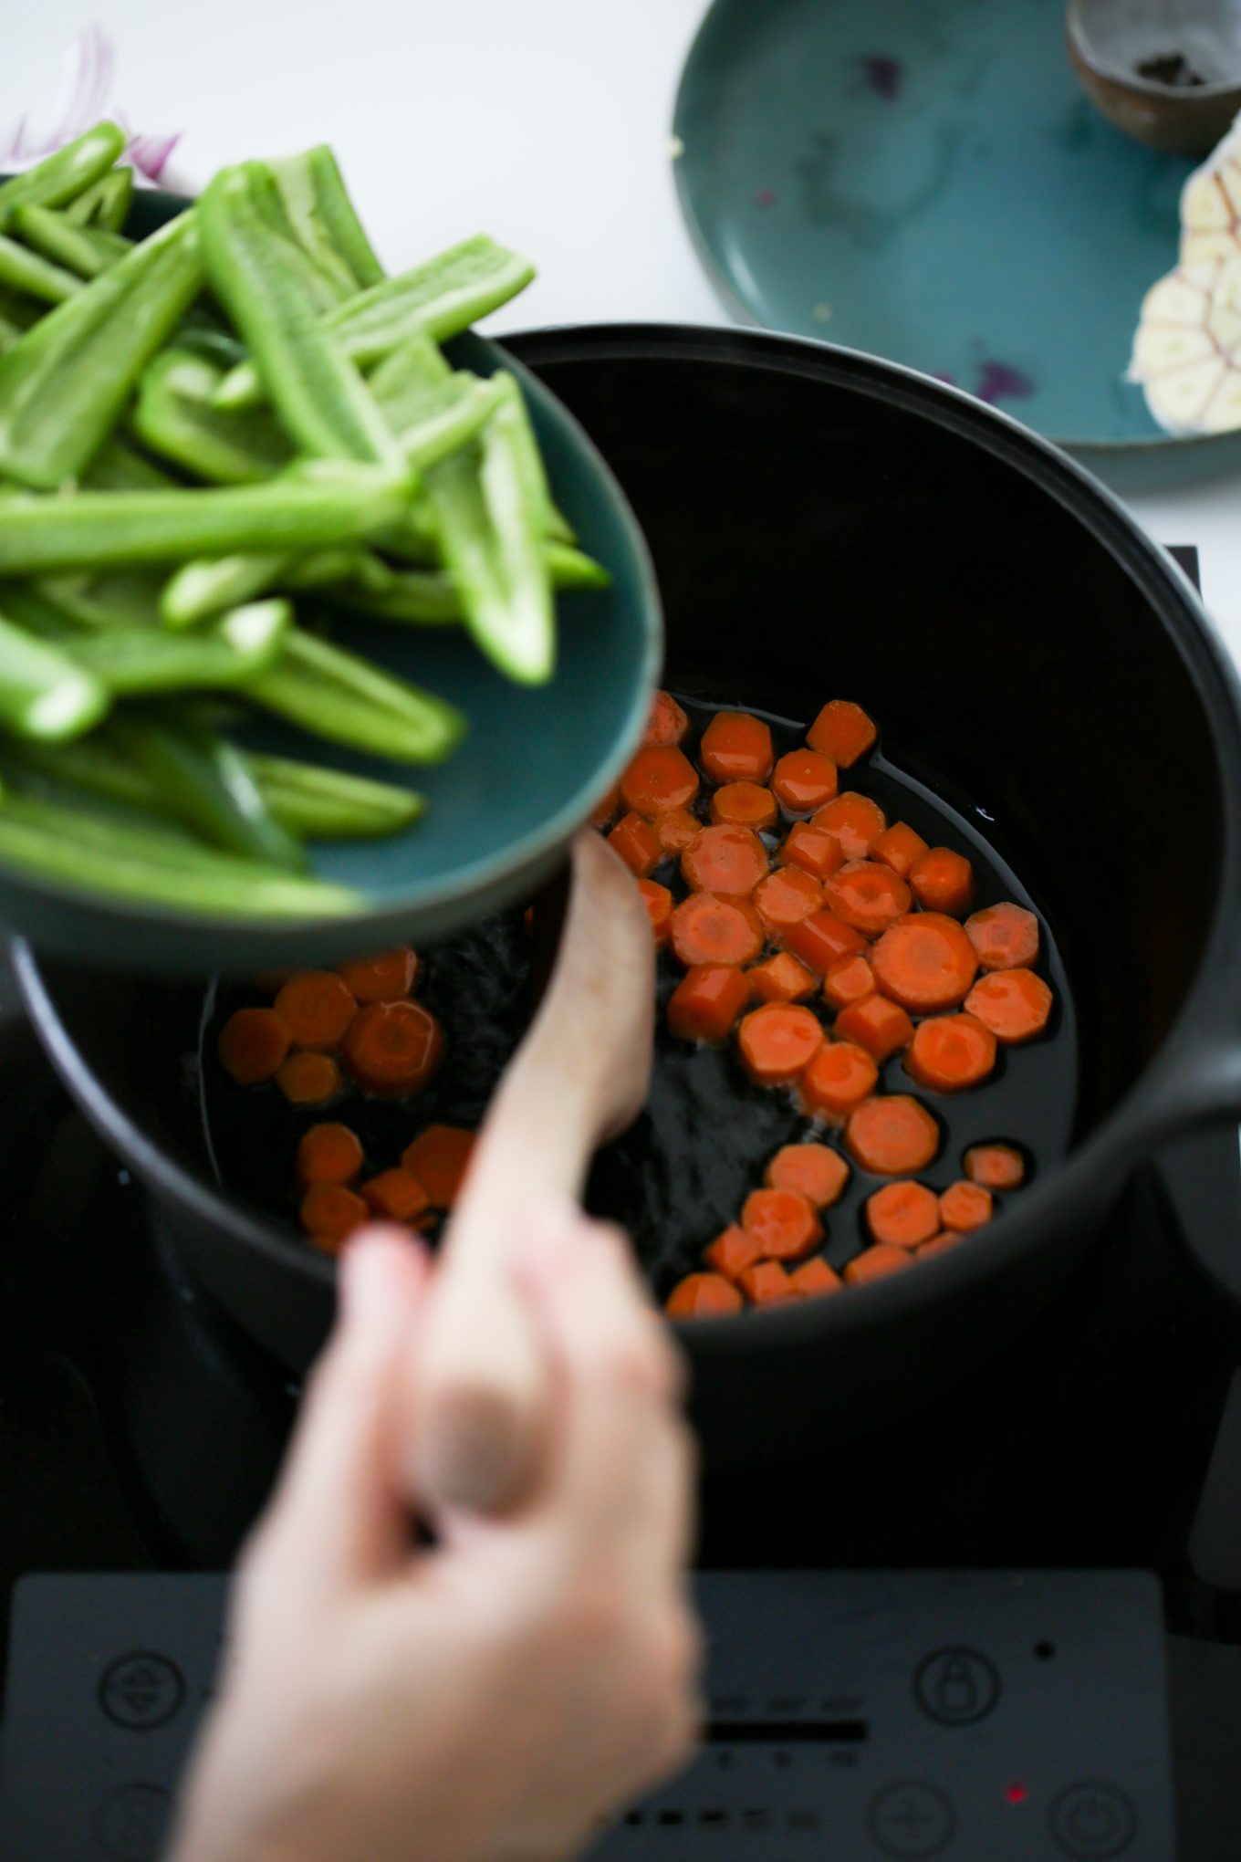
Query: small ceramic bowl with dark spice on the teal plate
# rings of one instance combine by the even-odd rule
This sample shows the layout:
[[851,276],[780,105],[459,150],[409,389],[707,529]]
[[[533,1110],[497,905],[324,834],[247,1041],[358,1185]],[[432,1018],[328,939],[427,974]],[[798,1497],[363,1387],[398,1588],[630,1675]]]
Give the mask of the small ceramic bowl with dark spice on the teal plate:
[[1241,112],[1237,0],[1068,0],[1068,56],[1109,123],[1209,155]]

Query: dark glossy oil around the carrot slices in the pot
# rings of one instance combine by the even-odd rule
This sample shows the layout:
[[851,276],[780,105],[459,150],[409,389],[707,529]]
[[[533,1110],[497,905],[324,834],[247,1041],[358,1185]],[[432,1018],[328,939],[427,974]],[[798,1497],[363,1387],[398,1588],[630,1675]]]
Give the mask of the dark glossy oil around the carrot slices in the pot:
[[[711,719],[705,704],[685,700],[690,739],[696,745]],[[776,754],[804,743],[809,719],[768,717]],[[701,765],[700,765],[701,767]],[[698,814],[707,817],[709,780]],[[936,1190],[962,1175],[964,1151],[982,1140],[1003,1138],[1027,1154],[1034,1169],[1057,1164],[1074,1134],[1077,1102],[1077,1043],[1074,1004],[1061,955],[1049,937],[1038,901],[988,842],[984,817],[973,819],[947,808],[925,784],[895,769],[882,754],[852,771],[841,771],[841,788],[871,795],[889,821],[908,821],[932,847],[953,847],[975,870],[975,905],[1016,899],[1040,916],[1040,974],[1055,992],[1051,1024],[1038,1041],[999,1050],[994,1076],[966,1093],[927,1093],[904,1071],[899,1056],[882,1069],[880,1091],[914,1093],[940,1125],[940,1153],[921,1171]],[[765,836],[774,849],[780,834]],[[675,886],[675,862],[653,873]],[[225,1192],[264,1214],[290,1220],[296,1207],[294,1154],[301,1132],[322,1117],[342,1119],[363,1140],[367,1169],[385,1169],[400,1160],[409,1140],[432,1123],[478,1127],[487,1099],[508,1061],[530,1011],[530,938],[519,914],[504,914],[426,951],[419,998],[441,1019],[447,1059],[439,1076],[415,1100],[365,1099],[350,1093],[327,1112],[292,1110],[275,1086],[240,1089],[214,1059],[214,1039],[223,1015],[242,1002],[264,998],[231,992],[208,996],[203,1041],[205,1119],[208,1147]],[[590,1205],[621,1221],[634,1238],[655,1290],[701,1264],[701,1248],[735,1221],[750,1190],[759,1188],[763,1167],[785,1143],[824,1138],[839,1145],[839,1132],[824,1132],[804,1117],[789,1089],[754,1086],[741,1067],[737,1043],[713,1048],[677,1039],[668,1032],[666,1002],[683,976],[670,951],[661,955],[657,979],[655,1071],[646,1110],[634,1127],[597,1158]],[[817,996],[813,1007],[830,1030],[832,1013]],[[549,1108],[554,1117],[554,1108]],[[828,1216],[826,1259],[843,1266],[863,1246],[861,1205],[887,1179],[854,1169],[845,1197]]]

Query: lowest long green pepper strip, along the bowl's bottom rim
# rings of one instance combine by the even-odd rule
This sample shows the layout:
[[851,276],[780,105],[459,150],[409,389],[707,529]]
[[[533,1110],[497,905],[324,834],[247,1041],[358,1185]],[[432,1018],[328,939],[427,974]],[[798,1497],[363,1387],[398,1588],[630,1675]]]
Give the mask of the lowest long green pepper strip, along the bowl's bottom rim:
[[141,827],[35,795],[0,801],[0,860],[74,892],[102,892],[216,918],[344,918],[350,886],[238,860],[169,829]]

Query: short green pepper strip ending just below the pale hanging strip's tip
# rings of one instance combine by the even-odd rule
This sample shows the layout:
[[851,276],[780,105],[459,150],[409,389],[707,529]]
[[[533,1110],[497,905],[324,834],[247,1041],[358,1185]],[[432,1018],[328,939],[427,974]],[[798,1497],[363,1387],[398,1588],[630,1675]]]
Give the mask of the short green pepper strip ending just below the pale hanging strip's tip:
[[292,627],[281,659],[249,681],[246,696],[329,743],[398,763],[439,763],[465,730],[443,698],[301,627]]

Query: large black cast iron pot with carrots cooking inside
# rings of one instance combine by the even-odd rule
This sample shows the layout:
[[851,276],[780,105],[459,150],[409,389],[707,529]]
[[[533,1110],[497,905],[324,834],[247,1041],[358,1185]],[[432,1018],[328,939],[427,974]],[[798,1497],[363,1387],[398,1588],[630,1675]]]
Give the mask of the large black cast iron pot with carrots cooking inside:
[[[1064,1154],[1038,1158],[992,1229],[834,1300],[685,1328],[707,1458],[804,1449],[999,1350],[1070,1275],[1135,1160],[1241,1108],[1237,685],[1174,562],[1074,464],[967,397],[770,335],[594,328],[512,346],[646,529],[666,681],[794,719],[858,698],[897,765],[995,823],[1070,981]],[[158,1220],[301,1369],[331,1266],[214,1182],[192,1115],[201,994],[100,987],[26,948],[17,966],[52,1059]]]

